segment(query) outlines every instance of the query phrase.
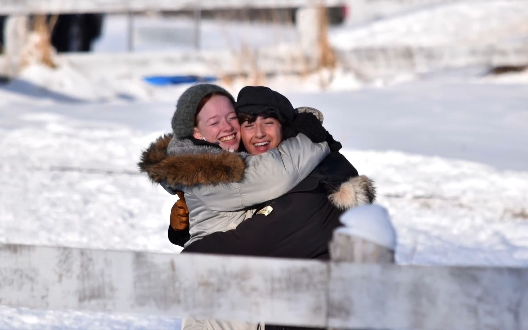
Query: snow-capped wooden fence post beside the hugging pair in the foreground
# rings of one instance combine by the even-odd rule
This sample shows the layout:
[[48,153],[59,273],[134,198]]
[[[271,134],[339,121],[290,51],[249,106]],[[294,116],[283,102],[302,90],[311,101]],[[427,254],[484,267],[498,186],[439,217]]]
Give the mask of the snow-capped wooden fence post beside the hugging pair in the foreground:
[[[359,206],[343,213],[341,223],[343,227],[334,231],[330,243],[331,271],[336,262],[394,263],[396,232],[385,208],[376,204]],[[338,307],[333,304],[332,291],[329,295],[328,319]]]

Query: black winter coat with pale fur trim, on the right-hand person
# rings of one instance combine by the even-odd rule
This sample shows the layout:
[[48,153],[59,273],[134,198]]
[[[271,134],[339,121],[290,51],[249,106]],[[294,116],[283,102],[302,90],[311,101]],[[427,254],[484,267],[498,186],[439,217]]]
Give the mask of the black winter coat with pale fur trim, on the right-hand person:
[[[355,194],[343,192],[347,184]],[[340,193],[345,197],[336,197]],[[271,206],[268,215],[257,212],[236,229],[212,233],[182,252],[328,259],[328,242],[340,225],[343,210],[365,202],[358,199],[359,195],[366,202],[372,202],[372,183],[364,176],[357,176],[356,169],[343,155],[331,153],[293,190],[259,205],[258,209]],[[168,237],[183,246],[188,240],[188,231],[175,231],[169,226]]]

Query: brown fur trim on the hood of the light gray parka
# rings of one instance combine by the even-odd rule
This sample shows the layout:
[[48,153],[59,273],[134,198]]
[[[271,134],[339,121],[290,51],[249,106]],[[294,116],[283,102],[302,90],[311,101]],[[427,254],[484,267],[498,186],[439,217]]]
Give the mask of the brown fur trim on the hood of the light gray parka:
[[138,166],[153,182],[166,181],[171,187],[239,182],[246,169],[237,153],[197,146],[189,139],[173,138],[173,134],[150,144]]

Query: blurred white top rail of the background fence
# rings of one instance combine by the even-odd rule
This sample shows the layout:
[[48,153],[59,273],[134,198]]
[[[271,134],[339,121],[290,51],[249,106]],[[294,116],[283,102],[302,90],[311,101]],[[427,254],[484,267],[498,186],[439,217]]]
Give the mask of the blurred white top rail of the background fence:
[[[328,6],[343,0],[317,0]],[[0,14],[129,13],[191,11],[195,8],[281,8],[313,4],[314,0],[0,0]]]

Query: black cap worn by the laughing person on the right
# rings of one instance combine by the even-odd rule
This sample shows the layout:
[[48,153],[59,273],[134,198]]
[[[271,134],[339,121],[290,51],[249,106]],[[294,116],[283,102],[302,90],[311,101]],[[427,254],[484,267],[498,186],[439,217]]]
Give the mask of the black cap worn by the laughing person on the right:
[[263,86],[246,86],[240,90],[235,103],[237,114],[258,115],[268,111],[277,116],[280,124],[288,126],[297,114],[297,110],[281,93]]

